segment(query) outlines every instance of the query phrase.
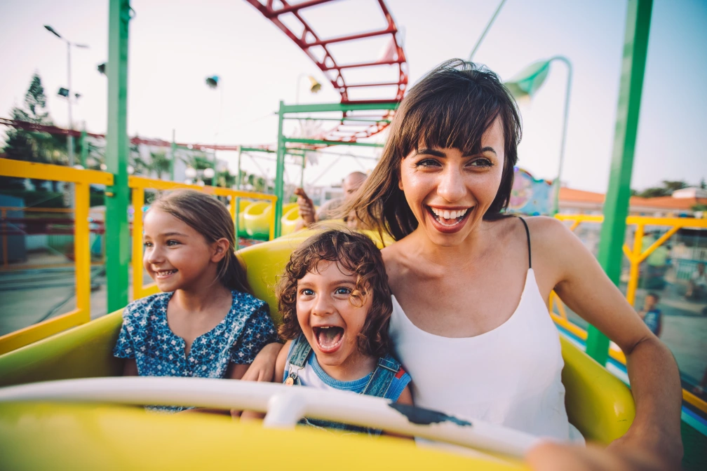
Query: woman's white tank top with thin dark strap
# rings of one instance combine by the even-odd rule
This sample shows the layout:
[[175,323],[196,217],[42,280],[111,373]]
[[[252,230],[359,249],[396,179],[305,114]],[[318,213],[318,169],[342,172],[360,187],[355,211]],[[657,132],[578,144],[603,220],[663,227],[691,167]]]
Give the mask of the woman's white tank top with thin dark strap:
[[[523,221],[525,224],[525,221]],[[528,241],[530,256],[530,237]],[[583,441],[565,410],[559,333],[532,268],[508,321],[469,338],[417,328],[392,297],[390,338],[415,405],[560,440]]]

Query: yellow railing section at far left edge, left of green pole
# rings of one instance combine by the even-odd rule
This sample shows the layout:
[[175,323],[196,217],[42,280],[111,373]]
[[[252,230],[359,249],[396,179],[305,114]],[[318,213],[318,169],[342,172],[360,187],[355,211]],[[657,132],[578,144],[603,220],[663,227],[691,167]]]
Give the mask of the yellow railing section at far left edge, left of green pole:
[[74,184],[74,263],[76,266],[76,309],[0,336],[0,354],[3,354],[90,320],[89,186],[91,184],[110,186],[113,184],[113,176],[98,170],[78,170],[61,165],[35,164],[9,159],[0,159],[0,175],[66,181]]

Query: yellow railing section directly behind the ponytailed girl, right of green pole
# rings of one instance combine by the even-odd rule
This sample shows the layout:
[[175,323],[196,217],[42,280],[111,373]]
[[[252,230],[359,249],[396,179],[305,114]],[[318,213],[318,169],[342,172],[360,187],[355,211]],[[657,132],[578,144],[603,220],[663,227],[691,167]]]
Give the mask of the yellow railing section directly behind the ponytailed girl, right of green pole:
[[274,239],[275,235],[275,202],[277,197],[266,193],[255,193],[252,191],[239,191],[218,186],[199,186],[175,183],[173,181],[163,181],[148,179],[143,177],[129,177],[128,186],[132,189],[132,202],[134,208],[133,214],[133,229],[132,229],[132,294],[133,299],[149,296],[158,292],[157,285],[150,283],[144,285],[143,263],[142,263],[142,218],[143,206],[145,204],[145,190],[174,190],[187,188],[197,191],[204,191],[214,196],[230,197],[230,216],[235,222],[238,217],[238,205],[236,198],[251,198],[270,201],[270,237]]

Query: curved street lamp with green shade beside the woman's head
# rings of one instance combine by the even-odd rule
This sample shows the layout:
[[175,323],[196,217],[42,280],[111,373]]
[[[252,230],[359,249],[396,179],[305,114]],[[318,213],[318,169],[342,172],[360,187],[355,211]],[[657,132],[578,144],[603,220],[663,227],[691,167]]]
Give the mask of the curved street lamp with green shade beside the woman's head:
[[508,82],[506,87],[516,98],[532,97],[547,78],[552,61],[561,61],[567,66],[567,86],[565,90],[565,106],[563,112],[562,140],[560,143],[560,162],[557,169],[557,177],[552,182],[553,201],[552,214],[556,215],[560,208],[560,179],[562,177],[562,167],[565,162],[565,143],[567,140],[567,124],[570,111],[570,93],[572,88],[572,63],[565,56],[554,56],[544,61],[537,61],[516,74]]

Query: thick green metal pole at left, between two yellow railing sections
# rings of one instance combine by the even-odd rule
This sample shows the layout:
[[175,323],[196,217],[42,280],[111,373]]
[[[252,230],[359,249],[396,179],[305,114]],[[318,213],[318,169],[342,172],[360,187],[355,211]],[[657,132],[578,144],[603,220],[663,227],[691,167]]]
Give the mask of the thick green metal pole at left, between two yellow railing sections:
[[[130,233],[128,226],[128,0],[110,0],[108,13],[108,132],[106,165],[113,186],[105,196],[105,271],[108,312],[128,304]],[[141,237],[141,234],[134,234]]]

